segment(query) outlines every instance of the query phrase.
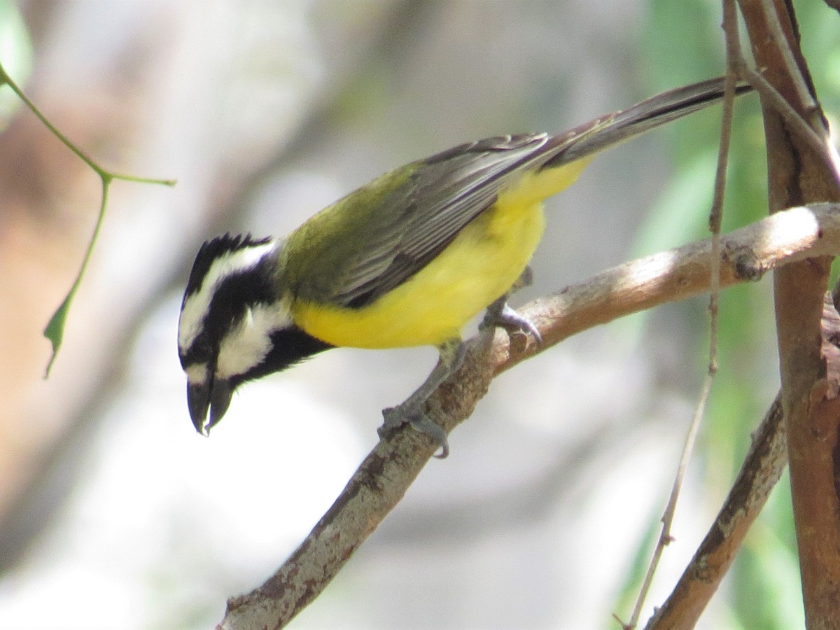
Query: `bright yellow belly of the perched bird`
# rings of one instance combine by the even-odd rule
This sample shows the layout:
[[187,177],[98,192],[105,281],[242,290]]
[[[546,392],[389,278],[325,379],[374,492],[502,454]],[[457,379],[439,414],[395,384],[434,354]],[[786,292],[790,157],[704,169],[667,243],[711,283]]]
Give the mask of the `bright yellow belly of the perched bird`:
[[458,338],[470,319],[511,288],[543,227],[539,201],[502,195],[423,270],[376,302],[360,309],[297,302],[292,317],[307,333],[336,346],[442,344]]

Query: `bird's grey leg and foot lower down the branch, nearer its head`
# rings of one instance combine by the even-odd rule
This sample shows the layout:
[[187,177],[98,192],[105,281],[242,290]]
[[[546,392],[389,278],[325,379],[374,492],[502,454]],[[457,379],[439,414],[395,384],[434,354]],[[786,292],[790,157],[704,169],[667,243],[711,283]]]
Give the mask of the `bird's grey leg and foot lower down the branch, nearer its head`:
[[466,352],[467,344],[460,339],[450,339],[440,344],[438,346],[438,353],[440,353],[438,365],[434,366],[434,370],[428,375],[423,385],[417,387],[417,391],[408,396],[405,402],[396,407],[388,407],[382,410],[385,423],[381,426],[379,433],[383,434],[409,423],[412,428],[421,433],[426,433],[440,445],[441,453],[435,455],[435,457],[444,459],[449,454],[449,440],[446,438],[446,432],[443,428],[440,428],[438,423],[428,417],[423,407],[428,397],[432,396],[434,391],[464,363]]

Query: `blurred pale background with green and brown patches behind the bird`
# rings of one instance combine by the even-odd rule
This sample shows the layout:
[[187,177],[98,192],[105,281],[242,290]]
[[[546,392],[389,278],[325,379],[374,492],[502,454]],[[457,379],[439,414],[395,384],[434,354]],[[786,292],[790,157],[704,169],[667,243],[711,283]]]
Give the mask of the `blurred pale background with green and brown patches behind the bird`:
[[[840,29],[797,8],[828,113]],[[291,553],[433,349],[337,349],[195,433],[176,352],[202,240],[284,234],[397,165],[559,132],[722,74],[711,0],[0,0],[0,62],[116,182],[64,348],[100,182],[0,89],[0,627],[204,628]],[[745,46],[748,49],[748,46]],[[599,157],[550,200],[517,300],[705,236],[719,108]],[[725,226],[765,212],[754,97]],[[717,512],[778,387],[769,278],[722,296],[721,370],[643,619]],[[706,298],[497,379],[298,628],[601,628],[629,617],[706,371]],[[701,627],[802,627],[786,477]]]

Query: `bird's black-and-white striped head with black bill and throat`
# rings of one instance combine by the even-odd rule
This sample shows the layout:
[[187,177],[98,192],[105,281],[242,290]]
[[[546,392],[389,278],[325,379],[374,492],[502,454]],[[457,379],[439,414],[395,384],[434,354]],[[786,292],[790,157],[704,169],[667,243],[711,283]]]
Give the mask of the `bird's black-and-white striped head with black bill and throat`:
[[245,381],[329,347],[291,319],[289,297],[278,286],[281,247],[275,239],[225,234],[198,250],[181,302],[178,354],[199,433],[222,419]]

